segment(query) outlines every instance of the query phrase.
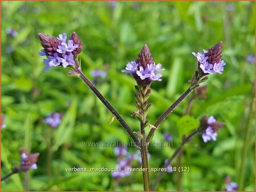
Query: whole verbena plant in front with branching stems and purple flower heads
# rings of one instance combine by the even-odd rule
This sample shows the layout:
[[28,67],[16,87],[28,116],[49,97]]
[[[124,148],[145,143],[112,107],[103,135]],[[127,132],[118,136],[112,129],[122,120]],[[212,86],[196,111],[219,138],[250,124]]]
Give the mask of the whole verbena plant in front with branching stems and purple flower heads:
[[[77,36],[76,32],[73,32],[69,40],[67,40],[67,34],[61,34],[59,37],[52,37],[39,33],[39,39],[43,49],[39,52],[40,56],[46,56],[44,59],[44,64],[46,67],[44,71],[49,70],[51,67],[63,66],[70,67],[68,75],[79,77],[102,101],[102,103],[109,109],[127,133],[133,139],[133,142],[139,148],[142,158],[142,173],[143,173],[143,185],[145,191],[150,191],[150,176],[148,167],[148,143],[154,136],[154,132],[159,128],[160,124],[164,119],[175,109],[181,101],[188,96],[196,87],[199,87],[200,83],[205,82],[208,79],[209,74],[218,73],[222,74],[224,70],[225,62],[221,60],[222,53],[222,42],[218,42],[212,48],[204,50],[204,53],[192,53],[193,56],[197,58],[198,69],[193,74],[191,80],[189,80],[188,89],[172,104],[159,118],[151,125],[149,120],[147,120],[147,114],[150,110],[151,103],[148,103],[148,98],[150,97],[151,89],[150,86],[154,81],[162,81],[161,71],[162,65],[158,63],[155,64],[150,50],[147,45],[144,45],[141,52],[138,54],[137,59],[127,63],[126,68],[122,72],[129,73],[135,79],[137,85],[135,85],[135,106],[136,110],[133,112],[133,116],[137,118],[140,122],[140,131],[133,131],[126,121],[123,120],[121,115],[113,108],[113,106],[105,99],[104,96],[97,90],[92,82],[82,73],[81,62],[79,61],[79,53],[82,50],[82,42]],[[167,168],[171,164],[171,161],[176,157],[176,155],[181,150],[181,147],[191,140],[192,136],[195,134],[201,134],[204,142],[208,140],[216,140],[217,131],[224,125],[222,122],[217,122],[214,117],[205,116],[202,118],[200,126],[192,131],[191,134],[183,137],[181,146],[177,148],[174,155],[164,165]],[[150,127],[150,131],[146,134],[146,127]],[[158,182],[161,180],[164,172],[160,172],[159,177],[156,179],[152,189],[155,189]]]

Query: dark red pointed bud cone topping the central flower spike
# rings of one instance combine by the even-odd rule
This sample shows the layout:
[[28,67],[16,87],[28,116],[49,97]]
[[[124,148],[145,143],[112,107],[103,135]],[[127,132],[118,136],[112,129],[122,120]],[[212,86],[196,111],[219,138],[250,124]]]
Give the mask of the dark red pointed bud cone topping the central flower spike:
[[147,45],[144,45],[141,52],[138,54],[136,63],[138,66],[143,66],[144,69],[147,68],[147,64],[154,64],[153,58]]

